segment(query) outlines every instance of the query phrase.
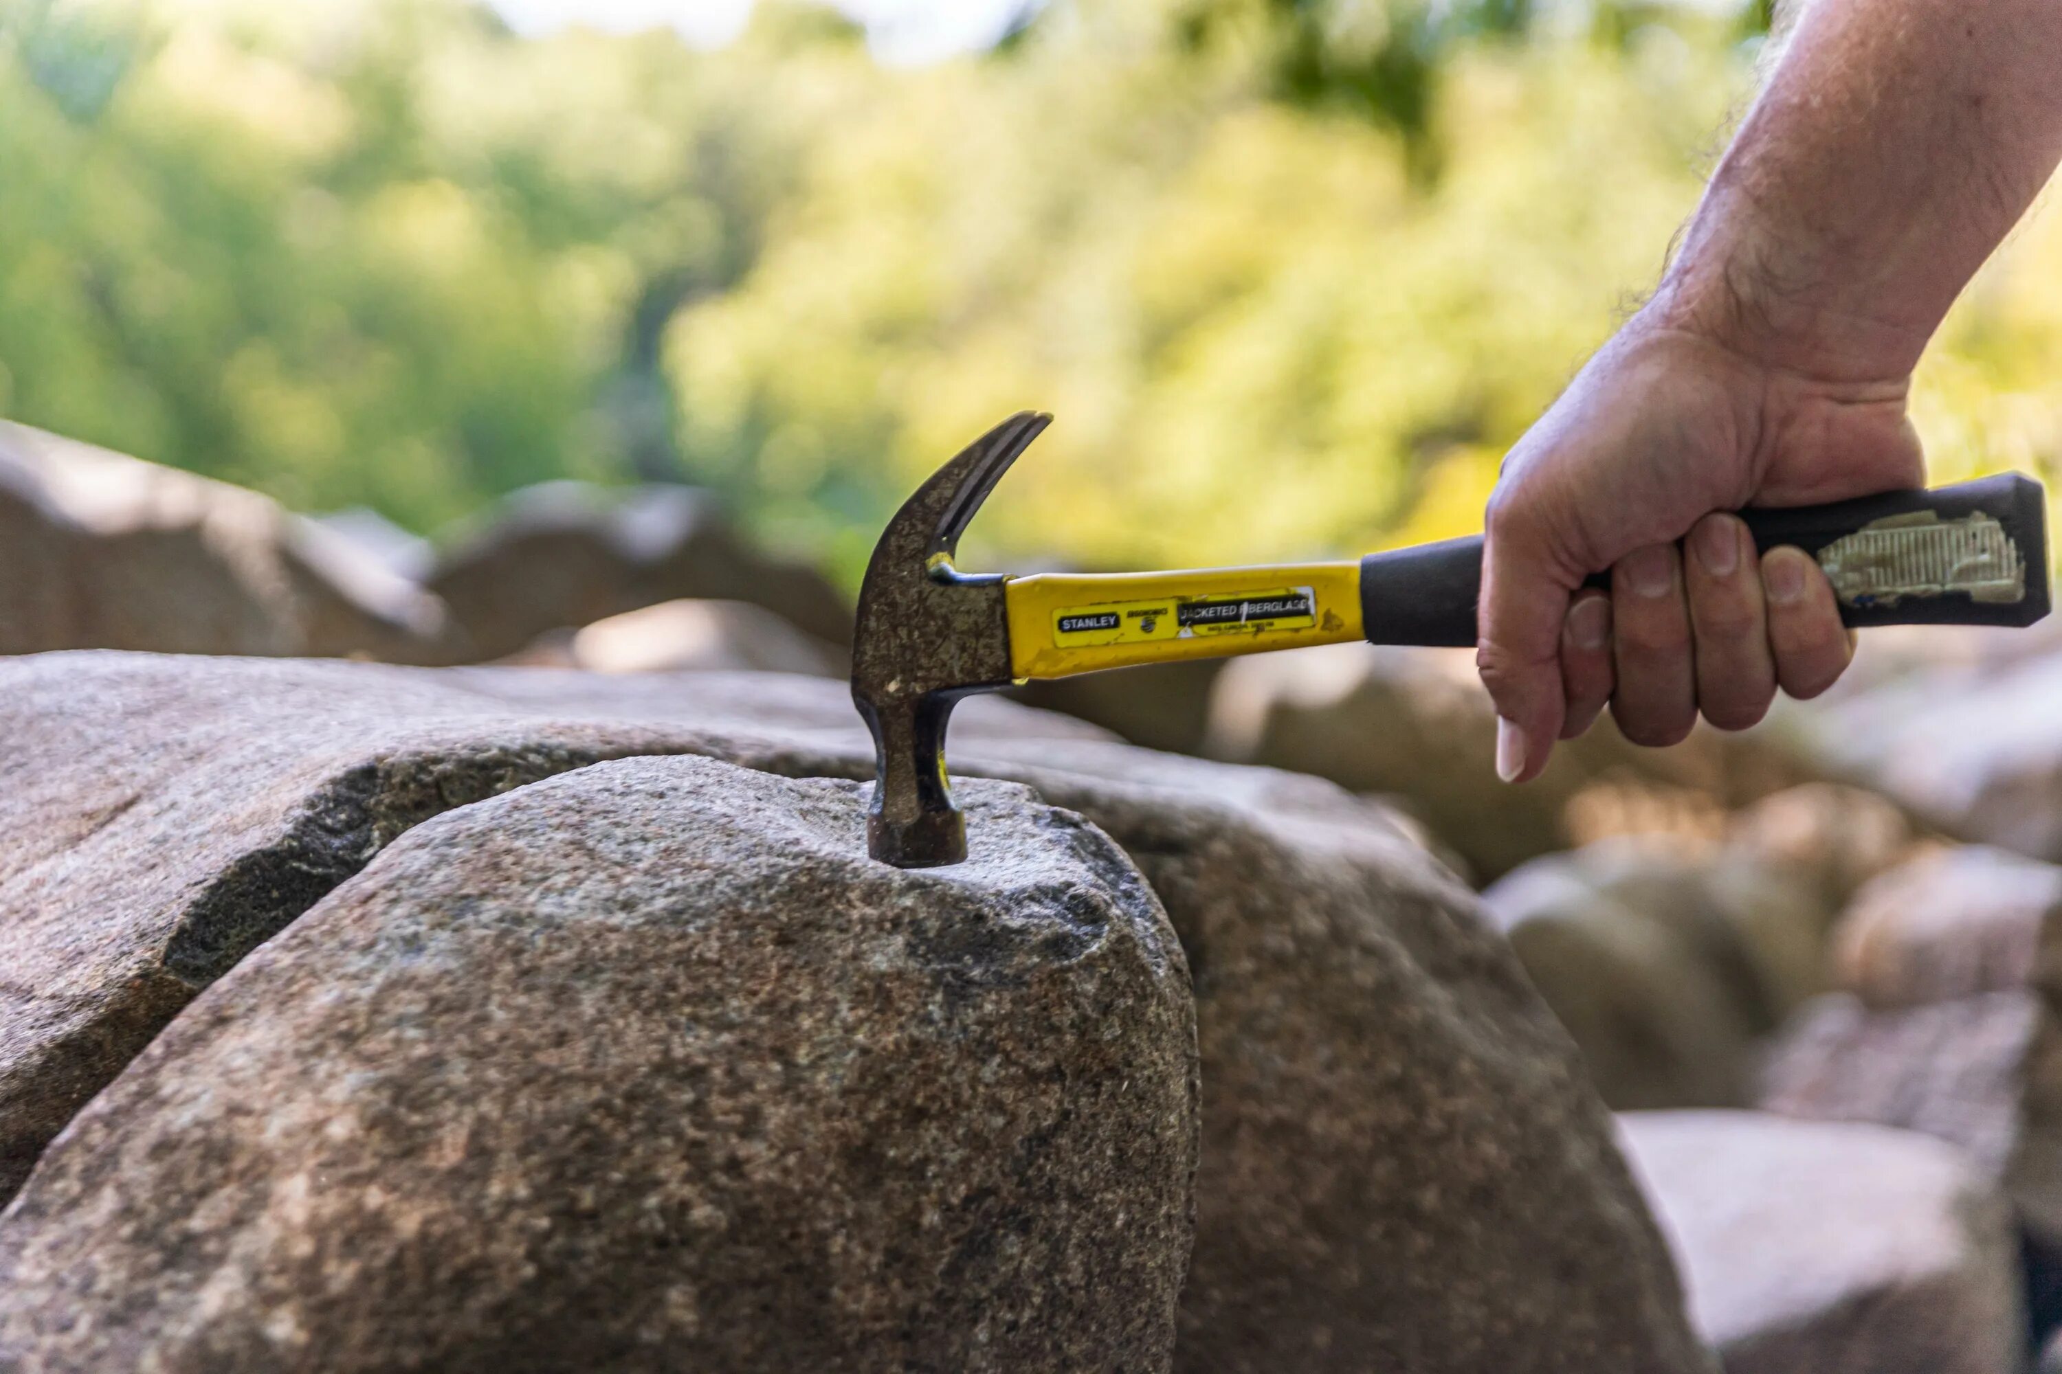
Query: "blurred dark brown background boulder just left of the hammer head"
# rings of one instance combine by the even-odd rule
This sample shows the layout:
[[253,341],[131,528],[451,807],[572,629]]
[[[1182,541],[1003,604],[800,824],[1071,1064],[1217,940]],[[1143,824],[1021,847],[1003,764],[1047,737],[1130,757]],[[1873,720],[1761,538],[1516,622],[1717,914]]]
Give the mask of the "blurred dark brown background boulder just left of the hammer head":
[[691,486],[528,486],[445,540],[429,589],[474,659],[680,597],[751,602],[804,634],[852,643],[852,608],[821,573],[761,554]]

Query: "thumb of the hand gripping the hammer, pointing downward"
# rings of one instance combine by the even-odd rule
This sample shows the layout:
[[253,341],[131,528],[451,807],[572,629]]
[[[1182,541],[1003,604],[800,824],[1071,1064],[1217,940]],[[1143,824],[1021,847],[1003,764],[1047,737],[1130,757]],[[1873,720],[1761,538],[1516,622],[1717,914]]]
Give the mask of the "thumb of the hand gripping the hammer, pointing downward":
[[1497,777],[1538,777],[1561,735],[1561,622],[1571,587],[1524,521],[1489,517],[1474,665],[1497,702]]

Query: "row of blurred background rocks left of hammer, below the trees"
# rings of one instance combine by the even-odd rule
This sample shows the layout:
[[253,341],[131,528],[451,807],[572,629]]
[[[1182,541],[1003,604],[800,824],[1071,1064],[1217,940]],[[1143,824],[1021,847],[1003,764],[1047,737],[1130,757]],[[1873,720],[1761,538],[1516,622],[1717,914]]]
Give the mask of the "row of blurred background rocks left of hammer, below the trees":
[[814,569],[761,554],[693,488],[553,482],[468,521],[441,554],[417,558],[396,536],[365,513],[307,519],[0,422],[0,655],[584,661],[561,643],[581,626],[691,599],[713,606],[614,624],[592,655],[606,672],[843,672],[845,599]]

